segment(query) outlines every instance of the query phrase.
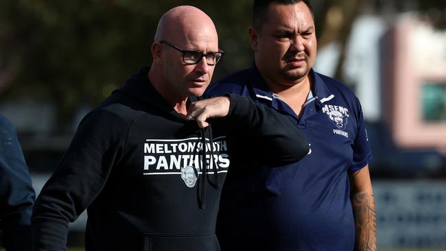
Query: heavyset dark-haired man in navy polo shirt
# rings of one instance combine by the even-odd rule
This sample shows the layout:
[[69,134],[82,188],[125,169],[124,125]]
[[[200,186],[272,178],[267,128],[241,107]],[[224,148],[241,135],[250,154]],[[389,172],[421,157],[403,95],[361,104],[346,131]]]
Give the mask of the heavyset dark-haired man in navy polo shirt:
[[253,66],[209,93],[244,95],[284,112],[310,151],[276,169],[257,158],[231,160],[217,224],[222,250],[376,250],[360,101],[312,69],[316,28],[309,1],[255,0],[253,12]]

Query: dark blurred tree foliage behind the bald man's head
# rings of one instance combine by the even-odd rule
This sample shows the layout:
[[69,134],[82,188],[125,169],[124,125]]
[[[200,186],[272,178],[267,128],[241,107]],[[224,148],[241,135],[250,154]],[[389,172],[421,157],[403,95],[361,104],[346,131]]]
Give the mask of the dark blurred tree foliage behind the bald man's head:
[[[56,106],[58,130],[71,125],[80,104],[95,106],[126,77],[150,64],[150,44],[161,14],[184,1],[1,1],[2,101],[32,99]],[[227,53],[218,73],[249,59],[250,1],[191,1],[218,26]],[[224,6],[225,13],[222,13]],[[222,25],[224,23],[224,25]],[[243,56],[244,54],[244,56]],[[224,62],[224,61],[222,61]],[[218,75],[217,73],[217,75]]]

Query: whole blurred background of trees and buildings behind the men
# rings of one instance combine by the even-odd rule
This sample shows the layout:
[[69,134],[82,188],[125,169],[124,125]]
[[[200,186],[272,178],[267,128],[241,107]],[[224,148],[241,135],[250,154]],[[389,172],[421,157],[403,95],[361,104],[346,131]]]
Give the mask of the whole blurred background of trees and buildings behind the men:
[[[226,53],[214,80],[249,67],[250,0],[2,0],[0,113],[39,192],[80,119],[151,63],[161,15],[209,14]],[[373,151],[378,250],[446,250],[446,1],[313,0],[315,69],[362,102]],[[83,246],[86,214],[71,224]]]

